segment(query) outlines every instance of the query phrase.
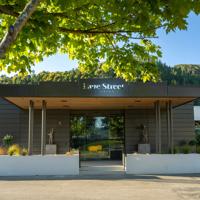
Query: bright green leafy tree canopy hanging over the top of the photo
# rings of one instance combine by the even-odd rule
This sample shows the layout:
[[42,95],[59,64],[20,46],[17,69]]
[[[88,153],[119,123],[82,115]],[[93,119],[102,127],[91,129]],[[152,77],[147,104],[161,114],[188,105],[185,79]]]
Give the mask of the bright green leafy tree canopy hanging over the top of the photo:
[[[30,0],[29,0],[30,1]],[[0,0],[0,38],[32,0]],[[126,80],[158,80],[161,56],[152,42],[156,31],[187,28],[188,14],[200,12],[199,0],[42,0],[30,10],[0,69],[30,71],[35,62],[57,52],[78,59],[81,72],[112,69]],[[25,23],[24,23],[25,22]],[[13,25],[14,24],[14,25]],[[22,28],[23,27],[23,28]],[[7,31],[9,29],[9,31]],[[4,41],[4,39],[3,39]],[[2,43],[2,42],[1,42]]]

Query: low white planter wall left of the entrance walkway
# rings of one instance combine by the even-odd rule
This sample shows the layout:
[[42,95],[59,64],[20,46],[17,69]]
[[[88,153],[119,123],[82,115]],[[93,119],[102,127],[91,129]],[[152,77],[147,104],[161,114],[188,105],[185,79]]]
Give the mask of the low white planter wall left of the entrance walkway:
[[79,155],[0,156],[0,176],[78,175]]

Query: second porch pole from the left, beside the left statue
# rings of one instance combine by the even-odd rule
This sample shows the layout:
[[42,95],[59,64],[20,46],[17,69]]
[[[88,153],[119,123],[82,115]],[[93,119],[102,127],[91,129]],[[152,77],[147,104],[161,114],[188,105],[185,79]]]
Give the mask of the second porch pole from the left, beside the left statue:
[[41,155],[45,154],[46,145],[46,101],[42,101],[42,125],[41,125]]

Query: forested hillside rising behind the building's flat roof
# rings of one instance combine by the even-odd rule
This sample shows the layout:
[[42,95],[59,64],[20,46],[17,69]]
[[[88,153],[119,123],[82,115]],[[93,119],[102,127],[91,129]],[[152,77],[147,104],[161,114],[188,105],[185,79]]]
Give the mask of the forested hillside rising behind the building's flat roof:
[[[160,80],[171,85],[198,85],[200,86],[200,65],[180,64],[170,67],[161,62],[157,63],[160,73]],[[81,74],[78,69],[66,72],[41,72],[32,73],[28,76],[15,75],[7,77],[0,76],[0,83],[3,84],[37,84],[43,81],[65,82],[77,80],[80,78],[113,78],[116,77],[113,71],[103,72],[100,69],[94,69],[89,74]]]

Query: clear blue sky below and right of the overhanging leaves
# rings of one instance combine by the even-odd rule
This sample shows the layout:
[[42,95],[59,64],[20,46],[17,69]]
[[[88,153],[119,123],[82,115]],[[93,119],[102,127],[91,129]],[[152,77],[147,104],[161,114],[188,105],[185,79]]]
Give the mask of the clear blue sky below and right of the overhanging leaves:
[[[166,34],[158,31],[159,38],[156,44],[160,45],[163,52],[162,61],[170,66],[176,64],[200,64],[200,16],[190,14],[188,30]],[[66,71],[77,67],[76,61],[69,60],[67,55],[55,55],[45,58],[43,62],[33,66],[33,70],[41,71]]]

